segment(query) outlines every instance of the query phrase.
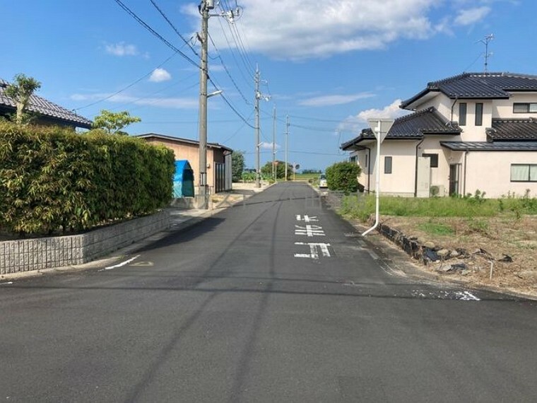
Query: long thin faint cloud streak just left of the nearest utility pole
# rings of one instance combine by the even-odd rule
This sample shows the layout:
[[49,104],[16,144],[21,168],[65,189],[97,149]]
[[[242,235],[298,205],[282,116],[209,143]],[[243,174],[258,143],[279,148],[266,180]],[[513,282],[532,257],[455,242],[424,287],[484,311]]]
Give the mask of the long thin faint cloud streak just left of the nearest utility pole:
[[[73,94],[71,95],[72,100],[77,101],[95,101],[95,100],[104,100],[106,98],[107,102],[112,103],[124,103],[124,104],[134,104],[134,105],[144,105],[144,106],[153,106],[153,107],[163,107],[167,109],[196,109],[199,106],[198,98],[137,98],[131,95],[112,95],[110,97],[109,93],[95,93],[95,94]],[[108,98],[110,97],[110,98]]]

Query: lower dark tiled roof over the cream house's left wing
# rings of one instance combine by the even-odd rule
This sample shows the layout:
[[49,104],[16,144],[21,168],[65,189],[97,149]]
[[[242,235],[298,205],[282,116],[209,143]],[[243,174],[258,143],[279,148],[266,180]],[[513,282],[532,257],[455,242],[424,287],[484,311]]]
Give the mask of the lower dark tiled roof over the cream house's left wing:
[[[461,128],[458,124],[451,124],[444,120],[434,107],[429,107],[419,112],[395,119],[386,140],[395,139],[422,139],[424,134],[459,135]],[[341,145],[341,149],[348,151],[357,148],[357,144],[363,140],[374,139],[371,129],[363,129],[355,139]],[[359,146],[358,146],[359,148]]]

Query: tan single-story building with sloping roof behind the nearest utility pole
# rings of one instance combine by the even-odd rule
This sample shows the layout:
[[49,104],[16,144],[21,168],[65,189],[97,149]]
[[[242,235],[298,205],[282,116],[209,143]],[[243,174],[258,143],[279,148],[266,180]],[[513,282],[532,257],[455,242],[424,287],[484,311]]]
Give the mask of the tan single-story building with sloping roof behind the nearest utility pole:
[[[199,186],[199,141],[179,139],[163,134],[135,136],[150,144],[161,144],[175,153],[175,160],[188,160],[194,170],[194,187]],[[207,185],[211,193],[231,190],[231,154],[233,150],[217,143],[207,143]]]

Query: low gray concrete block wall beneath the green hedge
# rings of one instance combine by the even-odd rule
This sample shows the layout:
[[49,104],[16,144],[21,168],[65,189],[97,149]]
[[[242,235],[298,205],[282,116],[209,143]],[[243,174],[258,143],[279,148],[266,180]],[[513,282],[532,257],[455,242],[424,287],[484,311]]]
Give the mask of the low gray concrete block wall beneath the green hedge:
[[83,264],[170,228],[170,214],[160,211],[80,235],[0,242],[0,274]]

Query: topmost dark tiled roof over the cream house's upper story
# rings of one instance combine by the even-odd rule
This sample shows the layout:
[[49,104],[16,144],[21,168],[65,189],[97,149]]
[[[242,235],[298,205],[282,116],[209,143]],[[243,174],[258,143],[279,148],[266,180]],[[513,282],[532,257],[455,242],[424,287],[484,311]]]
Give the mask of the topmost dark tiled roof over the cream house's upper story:
[[514,73],[464,73],[427,83],[427,88],[401,103],[405,109],[430,92],[440,92],[451,99],[507,99],[512,91],[536,91],[537,76]]

